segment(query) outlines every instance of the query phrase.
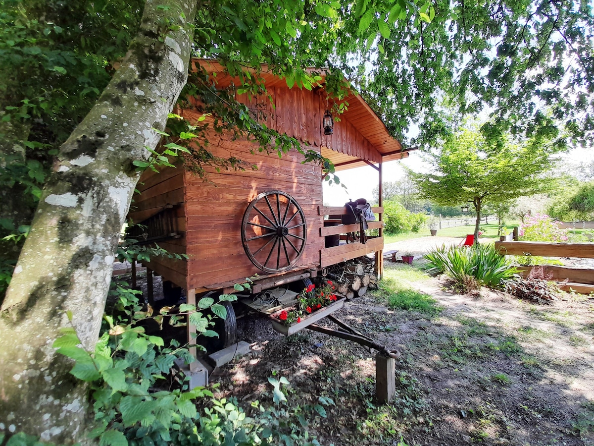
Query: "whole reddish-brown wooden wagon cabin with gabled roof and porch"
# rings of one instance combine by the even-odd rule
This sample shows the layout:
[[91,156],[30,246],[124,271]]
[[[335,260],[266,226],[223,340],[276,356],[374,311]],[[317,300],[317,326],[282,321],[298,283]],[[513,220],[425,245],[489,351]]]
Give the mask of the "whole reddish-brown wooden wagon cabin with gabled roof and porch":
[[[196,60],[216,73],[217,88],[232,85],[233,78],[219,64]],[[259,120],[295,137],[304,149],[316,150],[333,161],[336,170],[369,165],[369,177],[377,178],[381,191],[383,162],[408,156],[400,143],[365,101],[356,93],[345,100],[347,110],[324,134],[323,115],[328,108],[323,81],[312,90],[289,88],[285,79],[263,73],[268,98],[236,94]],[[331,104],[330,104],[331,105]],[[178,111],[190,122],[203,118],[194,109]],[[366,243],[328,243],[359,231],[359,225],[340,224],[345,206],[323,205],[323,172],[304,163],[304,155],[292,150],[281,158],[258,151],[258,145],[232,135],[212,133],[208,149],[214,156],[235,156],[256,169],[217,171],[206,167],[207,181],[182,168],[147,170],[138,184],[129,218],[146,225],[147,242],[156,242],[187,260],[153,257],[149,271],[162,276],[164,289],[181,287],[188,303],[211,291],[229,293],[235,283],[254,277],[252,293],[307,278],[327,266],[375,253],[375,271],[383,268],[381,202],[372,210],[379,216],[369,228],[378,236]],[[375,175],[374,175],[375,174]],[[380,193],[381,196],[381,193]],[[353,197],[358,198],[358,197]],[[330,224],[324,224],[331,217]],[[330,246],[334,244],[336,246]],[[169,285],[170,284],[172,285]]]

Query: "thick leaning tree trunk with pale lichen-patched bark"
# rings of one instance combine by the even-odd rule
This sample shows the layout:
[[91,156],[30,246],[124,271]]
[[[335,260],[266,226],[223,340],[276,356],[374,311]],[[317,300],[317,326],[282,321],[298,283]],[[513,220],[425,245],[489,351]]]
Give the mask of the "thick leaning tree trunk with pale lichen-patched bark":
[[62,145],[0,310],[0,429],[84,439],[84,385],[52,343],[68,326],[93,350],[113,255],[146,161],[187,79],[195,1],[147,0],[138,36]]

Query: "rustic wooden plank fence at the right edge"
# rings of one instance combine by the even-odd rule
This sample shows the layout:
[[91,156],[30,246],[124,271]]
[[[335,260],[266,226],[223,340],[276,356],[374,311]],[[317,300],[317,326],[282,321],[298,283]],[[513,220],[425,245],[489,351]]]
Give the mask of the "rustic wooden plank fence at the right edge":
[[[594,259],[594,243],[548,243],[545,241],[496,241],[495,249],[501,255],[508,256],[544,256],[544,257],[578,257]],[[533,266],[522,266],[525,274],[532,271]],[[594,291],[594,268],[576,268],[573,266],[542,265],[543,272],[551,275],[551,280],[560,282],[564,291],[590,294]]]

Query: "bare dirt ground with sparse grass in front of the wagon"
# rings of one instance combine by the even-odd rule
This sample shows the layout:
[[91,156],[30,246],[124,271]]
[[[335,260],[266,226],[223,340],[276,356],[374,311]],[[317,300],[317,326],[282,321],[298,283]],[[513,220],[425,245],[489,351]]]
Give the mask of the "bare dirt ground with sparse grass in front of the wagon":
[[[594,300],[459,295],[411,268],[386,262],[385,276],[431,296],[431,310],[390,309],[378,290],[334,313],[400,352],[390,404],[375,403],[374,354],[307,329],[284,337],[252,315],[238,320],[251,353],[211,376],[216,396],[251,413],[273,406],[268,378],[284,376],[283,407],[309,420],[287,425],[323,445],[594,445]],[[319,397],[334,402],[326,417],[311,409]]]

